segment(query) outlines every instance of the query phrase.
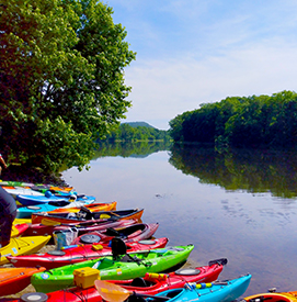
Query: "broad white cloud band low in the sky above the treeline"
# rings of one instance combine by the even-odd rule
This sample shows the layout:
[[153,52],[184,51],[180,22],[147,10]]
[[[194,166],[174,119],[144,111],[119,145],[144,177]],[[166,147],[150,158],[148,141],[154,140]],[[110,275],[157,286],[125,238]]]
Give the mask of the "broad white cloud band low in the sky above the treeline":
[[297,45],[276,38],[248,46],[203,60],[189,56],[132,65],[126,72],[126,82],[133,87],[128,119],[169,121],[226,97],[295,89]]

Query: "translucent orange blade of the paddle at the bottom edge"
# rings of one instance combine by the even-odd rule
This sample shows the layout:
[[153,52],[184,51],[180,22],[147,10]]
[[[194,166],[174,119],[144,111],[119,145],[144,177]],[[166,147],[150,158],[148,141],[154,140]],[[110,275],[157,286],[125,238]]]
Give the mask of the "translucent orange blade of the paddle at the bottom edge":
[[119,286],[102,280],[95,280],[95,288],[100,295],[110,302],[123,302],[132,294],[132,292]]

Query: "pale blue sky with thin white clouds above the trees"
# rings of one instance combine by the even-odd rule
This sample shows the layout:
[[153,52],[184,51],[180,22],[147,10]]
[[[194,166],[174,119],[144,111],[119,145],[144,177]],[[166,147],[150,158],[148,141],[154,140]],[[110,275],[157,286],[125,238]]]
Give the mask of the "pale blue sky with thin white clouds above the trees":
[[296,0],[103,2],[137,53],[124,70],[132,108],[122,122],[168,130],[202,103],[296,91]]

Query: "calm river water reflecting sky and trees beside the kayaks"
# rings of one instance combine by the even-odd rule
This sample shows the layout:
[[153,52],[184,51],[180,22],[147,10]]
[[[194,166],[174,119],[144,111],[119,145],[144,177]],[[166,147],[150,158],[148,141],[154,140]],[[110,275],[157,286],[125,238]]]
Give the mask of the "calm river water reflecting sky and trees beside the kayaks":
[[106,156],[62,176],[99,202],[144,208],[142,222],[159,222],[156,237],[169,245],[194,244],[186,266],[226,257],[220,280],[252,273],[244,295],[297,290],[295,157],[250,156],[195,148]]

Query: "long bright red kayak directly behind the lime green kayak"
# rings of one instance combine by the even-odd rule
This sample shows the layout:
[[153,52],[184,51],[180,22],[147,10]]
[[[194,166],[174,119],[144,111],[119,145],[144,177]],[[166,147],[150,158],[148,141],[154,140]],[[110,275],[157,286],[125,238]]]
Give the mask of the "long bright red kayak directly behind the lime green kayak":
[[[139,241],[126,243],[127,251],[148,250],[162,248],[167,245],[168,238],[162,237],[151,241]],[[68,247],[62,250],[52,250],[45,254],[34,254],[26,256],[7,256],[14,267],[41,266],[46,269],[67,266],[76,262],[91,260],[103,256],[112,255],[112,247],[108,244],[88,244],[77,247]]]

